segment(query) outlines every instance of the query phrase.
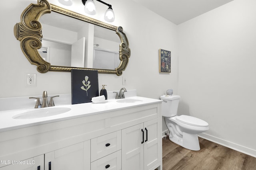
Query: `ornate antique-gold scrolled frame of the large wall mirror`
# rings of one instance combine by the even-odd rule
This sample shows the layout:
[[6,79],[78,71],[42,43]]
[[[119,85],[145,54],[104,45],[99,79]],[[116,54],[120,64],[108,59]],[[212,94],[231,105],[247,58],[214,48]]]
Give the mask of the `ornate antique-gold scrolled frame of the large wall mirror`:
[[[38,49],[42,47],[42,25],[39,19],[42,15],[51,12],[57,12],[78,20],[82,20],[100,27],[104,27],[118,34],[121,43],[119,46],[119,59],[120,64],[115,70],[104,70],[94,68],[78,68],[68,66],[53,66],[50,63],[44,61],[40,56]],[[16,23],[14,26],[14,35],[20,41],[20,47],[22,52],[31,64],[37,66],[38,72],[46,73],[48,71],[71,71],[72,69],[82,70],[98,70],[99,73],[110,73],[122,75],[122,71],[126,69],[126,66],[130,57],[130,48],[128,39],[123,32],[122,27],[116,27],[107,23],[94,20],[92,18],[83,16],[81,14],[60,8],[53,4],[50,4],[47,0],[38,0],[38,4],[30,4],[21,14],[21,22]]]

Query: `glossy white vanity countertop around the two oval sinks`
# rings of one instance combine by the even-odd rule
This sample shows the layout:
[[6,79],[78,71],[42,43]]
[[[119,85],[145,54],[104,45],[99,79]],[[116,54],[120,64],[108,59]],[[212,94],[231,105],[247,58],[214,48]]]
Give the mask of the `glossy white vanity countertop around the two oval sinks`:
[[26,111],[53,108],[53,107],[0,111],[0,132],[162,102],[161,100],[144,98],[139,96],[128,97],[126,99],[130,99],[130,98],[139,99],[143,101],[135,102],[135,103],[118,103],[116,102],[118,99],[117,100],[110,99],[110,100],[107,100],[107,102],[105,103],[98,103],[98,104],[90,102],[90,103],[74,104],[74,105],[71,105],[71,104],[56,105],[53,107],[68,107],[71,110],[59,115],[52,115],[48,117],[40,117],[40,118],[33,118],[33,119],[13,119],[12,117],[14,117],[17,114],[24,113]]

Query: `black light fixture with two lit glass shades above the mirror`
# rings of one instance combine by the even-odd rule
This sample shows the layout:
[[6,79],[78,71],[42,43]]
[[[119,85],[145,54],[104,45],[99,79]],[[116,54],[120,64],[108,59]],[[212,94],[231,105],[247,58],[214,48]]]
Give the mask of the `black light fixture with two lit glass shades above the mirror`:
[[[101,2],[102,4],[105,4],[106,6],[108,6],[108,9],[106,10],[105,15],[104,15],[104,20],[106,20],[108,22],[113,22],[115,20],[115,14],[112,9],[112,6],[110,4],[107,4],[106,2],[101,1],[101,0],[96,0],[96,1]],[[90,15],[96,14],[96,6],[95,6],[93,0],[82,0],[82,3],[84,4],[84,11],[87,14],[90,14]]]

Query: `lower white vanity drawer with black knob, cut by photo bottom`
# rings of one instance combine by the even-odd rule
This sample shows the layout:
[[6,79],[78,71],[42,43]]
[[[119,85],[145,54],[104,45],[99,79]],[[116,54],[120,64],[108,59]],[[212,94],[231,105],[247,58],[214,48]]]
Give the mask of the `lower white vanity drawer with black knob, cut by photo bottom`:
[[121,150],[92,162],[91,170],[121,170]]

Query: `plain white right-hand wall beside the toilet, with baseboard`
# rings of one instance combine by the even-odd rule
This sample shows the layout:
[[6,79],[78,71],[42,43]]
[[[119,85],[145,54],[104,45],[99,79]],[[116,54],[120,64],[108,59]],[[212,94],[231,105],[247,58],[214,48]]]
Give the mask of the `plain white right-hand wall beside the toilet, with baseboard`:
[[234,0],[178,25],[179,114],[202,137],[256,156],[256,1]]

